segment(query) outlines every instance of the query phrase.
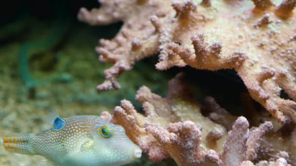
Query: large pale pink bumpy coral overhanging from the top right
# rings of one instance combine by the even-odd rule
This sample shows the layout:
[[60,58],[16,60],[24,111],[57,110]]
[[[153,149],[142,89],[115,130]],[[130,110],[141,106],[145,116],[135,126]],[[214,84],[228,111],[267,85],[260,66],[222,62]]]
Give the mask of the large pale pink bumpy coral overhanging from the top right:
[[[278,121],[296,120],[295,0],[100,0],[81,8],[92,25],[123,21],[112,40],[96,48],[105,71],[98,90],[120,88],[116,78],[136,61],[156,53],[163,70],[234,68],[251,97]],[[284,90],[292,100],[280,98]],[[294,100],[294,101],[293,101]]]

